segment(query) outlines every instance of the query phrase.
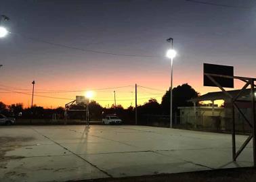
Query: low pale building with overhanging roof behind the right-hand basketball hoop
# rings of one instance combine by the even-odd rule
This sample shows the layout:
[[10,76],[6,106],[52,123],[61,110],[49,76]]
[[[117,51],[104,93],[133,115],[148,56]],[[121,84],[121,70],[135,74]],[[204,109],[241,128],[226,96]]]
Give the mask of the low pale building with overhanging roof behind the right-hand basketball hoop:
[[[240,90],[231,90],[228,93],[232,96],[236,96]],[[251,119],[251,101],[250,90],[244,90],[236,104],[242,111],[242,113],[248,119]],[[223,100],[223,107],[217,107],[214,104],[215,100]],[[204,127],[210,129],[230,130],[232,124],[232,102],[228,96],[223,92],[209,92],[197,98],[188,100],[194,102],[194,107],[179,107],[179,123],[182,125],[194,125],[194,127]],[[196,102],[211,101],[211,104],[196,107]],[[249,130],[249,125],[244,122],[242,115],[239,112],[235,112],[236,129],[239,131]]]

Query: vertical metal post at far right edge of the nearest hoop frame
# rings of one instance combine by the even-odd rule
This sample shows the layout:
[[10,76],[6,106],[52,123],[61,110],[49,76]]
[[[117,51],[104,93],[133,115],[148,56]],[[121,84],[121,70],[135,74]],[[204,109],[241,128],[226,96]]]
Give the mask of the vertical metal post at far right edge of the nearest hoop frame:
[[254,88],[254,80],[251,80],[251,97],[252,97],[252,121],[253,121],[253,164],[256,166],[256,117],[255,117],[255,88]]

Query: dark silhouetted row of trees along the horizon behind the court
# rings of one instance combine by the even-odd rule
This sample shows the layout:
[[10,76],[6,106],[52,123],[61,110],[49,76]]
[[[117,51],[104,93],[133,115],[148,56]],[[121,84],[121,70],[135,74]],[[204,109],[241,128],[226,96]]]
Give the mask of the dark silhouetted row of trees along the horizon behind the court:
[[[192,106],[192,102],[188,102],[190,98],[198,96],[198,92],[189,84],[182,84],[173,88],[173,113],[177,113],[178,107]],[[72,109],[83,109],[82,106],[73,105]],[[88,105],[89,118],[91,121],[100,121],[102,113],[118,115],[125,123],[134,123],[135,108],[128,107],[124,109],[121,105],[110,108],[102,107],[98,102],[91,101]],[[137,106],[139,120],[145,120],[147,115],[169,115],[170,112],[170,90],[167,90],[163,95],[161,103],[158,103],[155,98],[150,98],[147,102]],[[6,105],[0,102],[0,113],[9,117],[19,119],[64,119],[64,108],[45,109],[43,107],[34,106],[33,108],[24,108],[22,103]],[[68,113],[68,119],[85,119],[85,112],[72,111]]]

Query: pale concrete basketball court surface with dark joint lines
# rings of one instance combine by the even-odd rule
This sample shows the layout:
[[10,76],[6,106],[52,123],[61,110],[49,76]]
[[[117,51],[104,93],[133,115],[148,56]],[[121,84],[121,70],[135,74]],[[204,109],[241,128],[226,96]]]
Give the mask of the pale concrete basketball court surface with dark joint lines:
[[[237,147],[247,138],[236,135]],[[69,181],[253,166],[231,135],[128,125],[0,126],[0,181]]]

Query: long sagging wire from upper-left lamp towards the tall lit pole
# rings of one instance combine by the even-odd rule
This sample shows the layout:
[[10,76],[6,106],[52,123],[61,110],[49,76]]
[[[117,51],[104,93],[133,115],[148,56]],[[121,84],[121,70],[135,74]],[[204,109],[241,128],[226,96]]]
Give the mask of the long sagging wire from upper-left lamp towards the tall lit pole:
[[50,44],[52,46],[57,46],[57,47],[63,47],[63,48],[66,48],[66,49],[74,49],[74,50],[77,50],[77,51],[98,53],[98,54],[104,54],[104,55],[122,56],[122,57],[160,57],[160,56],[157,56],[157,55],[127,55],[127,54],[110,53],[110,52],[104,52],[104,51],[96,51],[96,50],[91,50],[91,49],[83,49],[83,48],[79,48],[79,47],[72,47],[72,46],[69,46],[69,45],[66,45],[66,44],[59,44],[59,43],[49,42],[49,41],[46,41],[46,40],[41,40],[39,38],[24,36],[22,34],[17,34],[17,33],[14,33],[14,32],[9,32],[9,33],[14,34],[14,35],[18,35],[22,38],[33,40],[33,41],[36,41],[36,42],[42,42],[42,43],[45,43],[45,44]]

